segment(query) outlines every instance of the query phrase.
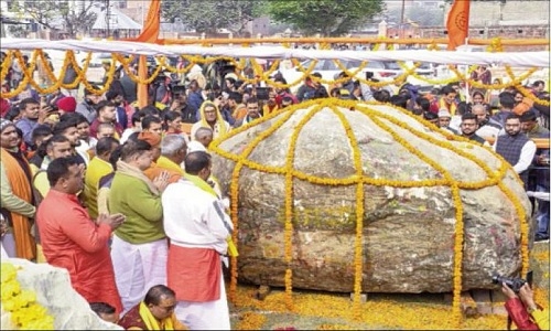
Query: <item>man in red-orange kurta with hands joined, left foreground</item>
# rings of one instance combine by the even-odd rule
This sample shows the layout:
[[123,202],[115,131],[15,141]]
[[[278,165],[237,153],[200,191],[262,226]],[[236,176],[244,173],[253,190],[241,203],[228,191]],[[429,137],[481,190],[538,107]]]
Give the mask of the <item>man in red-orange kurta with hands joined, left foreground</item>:
[[67,269],[73,288],[88,302],[106,302],[121,312],[108,241],[125,216],[90,220],[76,196],[83,189],[83,174],[73,157],[52,161],[47,179],[52,188],[36,213],[47,263]]

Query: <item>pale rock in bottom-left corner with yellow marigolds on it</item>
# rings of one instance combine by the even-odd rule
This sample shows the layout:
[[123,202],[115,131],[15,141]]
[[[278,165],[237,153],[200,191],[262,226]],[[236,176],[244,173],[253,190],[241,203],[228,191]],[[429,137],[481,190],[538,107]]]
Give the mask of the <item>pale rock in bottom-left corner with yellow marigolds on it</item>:
[[[67,270],[19,258],[2,258],[2,263],[6,261],[22,267],[18,270],[21,288],[36,292],[36,301],[55,318],[55,330],[125,330],[97,317],[88,302],[71,287]],[[10,314],[2,311],[1,317],[2,330],[12,329]]]

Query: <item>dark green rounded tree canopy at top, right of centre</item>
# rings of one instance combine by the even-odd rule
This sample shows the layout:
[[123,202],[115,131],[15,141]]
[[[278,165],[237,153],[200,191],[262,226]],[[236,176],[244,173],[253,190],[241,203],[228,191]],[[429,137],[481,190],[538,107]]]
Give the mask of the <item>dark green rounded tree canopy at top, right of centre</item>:
[[269,13],[306,35],[339,36],[383,11],[382,0],[273,0]]

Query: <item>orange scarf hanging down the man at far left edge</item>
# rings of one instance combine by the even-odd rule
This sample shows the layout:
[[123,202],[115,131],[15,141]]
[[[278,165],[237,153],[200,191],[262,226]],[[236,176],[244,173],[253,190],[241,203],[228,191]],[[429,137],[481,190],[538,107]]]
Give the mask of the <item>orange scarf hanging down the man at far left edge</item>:
[[[13,195],[32,203],[32,191],[25,172],[6,149],[1,149],[2,162],[6,166],[6,174],[10,182]],[[29,167],[29,166],[28,166]],[[31,235],[31,223],[29,218],[11,213],[13,223],[13,238],[15,239],[15,254],[19,258],[34,259],[36,257],[36,243]]]

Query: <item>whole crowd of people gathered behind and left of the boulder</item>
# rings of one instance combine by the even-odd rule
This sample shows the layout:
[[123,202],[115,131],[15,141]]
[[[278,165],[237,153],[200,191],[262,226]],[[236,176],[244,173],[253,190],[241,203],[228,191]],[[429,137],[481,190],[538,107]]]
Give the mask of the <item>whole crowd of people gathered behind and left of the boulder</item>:
[[[85,89],[80,100],[77,90],[40,95],[26,86],[1,99],[2,249],[66,268],[95,311],[126,329],[227,330],[223,265],[233,223],[208,146],[316,98],[389,103],[491,142],[527,191],[549,192],[549,149],[531,140],[549,138],[549,106],[533,103],[549,100],[543,82],[526,87],[533,97],[512,87],[473,89],[466,102],[458,82],[422,94],[411,84],[376,88],[345,74],[327,89],[320,77],[313,73],[291,93],[244,84],[235,73],[222,86],[201,75],[185,84],[166,76],[150,84],[139,108],[136,82],[117,70],[105,95]],[[19,84],[10,78],[4,92]],[[281,75],[273,81],[287,84]],[[549,202],[534,205],[536,239],[548,239]]]

